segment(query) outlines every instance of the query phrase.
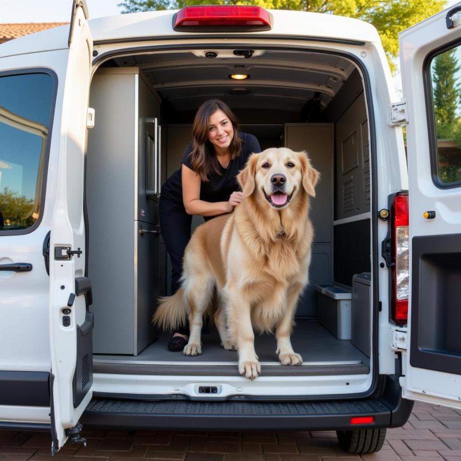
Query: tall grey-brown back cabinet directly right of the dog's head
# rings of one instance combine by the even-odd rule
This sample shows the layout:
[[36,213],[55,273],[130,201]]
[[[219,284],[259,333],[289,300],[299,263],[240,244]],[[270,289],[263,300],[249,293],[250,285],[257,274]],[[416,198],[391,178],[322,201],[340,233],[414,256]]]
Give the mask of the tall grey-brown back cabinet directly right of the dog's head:
[[315,234],[309,285],[298,303],[297,318],[317,317],[314,286],[332,282],[333,131],[332,123],[285,124],[285,146],[308,152],[312,165],[321,174],[316,197],[311,199],[310,219]]

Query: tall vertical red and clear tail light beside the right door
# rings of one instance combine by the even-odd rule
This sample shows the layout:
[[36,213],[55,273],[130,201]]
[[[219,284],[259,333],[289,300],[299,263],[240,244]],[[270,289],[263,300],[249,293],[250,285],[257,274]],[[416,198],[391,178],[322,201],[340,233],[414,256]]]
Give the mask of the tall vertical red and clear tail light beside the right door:
[[391,319],[399,325],[407,323],[409,294],[410,239],[408,192],[399,192],[391,206]]

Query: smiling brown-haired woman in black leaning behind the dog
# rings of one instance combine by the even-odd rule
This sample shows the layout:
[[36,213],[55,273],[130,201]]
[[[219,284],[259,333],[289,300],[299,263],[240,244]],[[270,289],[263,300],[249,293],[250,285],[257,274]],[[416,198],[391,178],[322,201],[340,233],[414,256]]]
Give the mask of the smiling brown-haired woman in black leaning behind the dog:
[[[172,293],[180,286],[192,215],[207,220],[231,213],[242,201],[236,176],[248,156],[261,151],[255,136],[239,133],[237,118],[219,99],[200,106],[192,135],[193,141],[181,158],[181,169],[163,184],[160,198],[160,228],[172,263]],[[187,327],[176,331],[168,348],[183,350],[188,334]]]

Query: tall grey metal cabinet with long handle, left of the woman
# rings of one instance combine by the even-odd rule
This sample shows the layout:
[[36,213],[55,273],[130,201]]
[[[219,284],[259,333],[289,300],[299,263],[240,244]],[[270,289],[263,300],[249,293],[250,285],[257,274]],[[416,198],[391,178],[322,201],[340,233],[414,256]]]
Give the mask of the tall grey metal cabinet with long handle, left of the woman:
[[156,337],[160,105],[138,68],[93,77],[86,202],[93,350],[138,354]]

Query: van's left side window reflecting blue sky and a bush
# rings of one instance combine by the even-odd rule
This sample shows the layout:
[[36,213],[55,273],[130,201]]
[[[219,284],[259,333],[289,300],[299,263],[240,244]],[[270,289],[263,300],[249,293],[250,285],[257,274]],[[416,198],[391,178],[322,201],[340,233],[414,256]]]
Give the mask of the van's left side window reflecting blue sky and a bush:
[[53,88],[45,73],[0,76],[0,235],[38,224]]

